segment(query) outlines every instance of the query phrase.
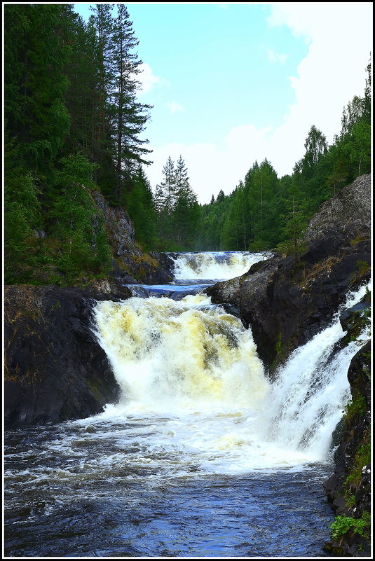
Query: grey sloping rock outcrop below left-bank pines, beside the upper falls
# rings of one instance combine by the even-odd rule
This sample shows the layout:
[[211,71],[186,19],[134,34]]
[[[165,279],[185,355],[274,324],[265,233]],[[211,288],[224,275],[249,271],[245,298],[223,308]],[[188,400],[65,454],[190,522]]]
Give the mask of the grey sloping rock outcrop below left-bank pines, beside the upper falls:
[[122,284],[166,284],[172,281],[170,265],[156,251],[144,254],[135,242],[129,215],[121,207],[111,207],[99,191],[93,199],[102,212],[113,259],[112,275]]

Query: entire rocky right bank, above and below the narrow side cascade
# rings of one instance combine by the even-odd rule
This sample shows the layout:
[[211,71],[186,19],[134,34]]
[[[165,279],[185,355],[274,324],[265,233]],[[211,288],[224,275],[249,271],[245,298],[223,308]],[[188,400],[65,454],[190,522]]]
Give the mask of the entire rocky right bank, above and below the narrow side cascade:
[[[299,256],[275,255],[243,277],[207,289],[214,303],[231,303],[251,324],[258,353],[272,377],[289,354],[327,327],[348,291],[371,278],[371,176],[358,177],[325,202],[308,225]],[[346,338],[357,338],[369,314],[369,295],[341,317]],[[346,343],[343,339],[343,345]],[[332,555],[370,553],[370,372],[371,345],[354,356],[348,370],[352,394],[334,434],[335,470],[325,483],[336,512]]]

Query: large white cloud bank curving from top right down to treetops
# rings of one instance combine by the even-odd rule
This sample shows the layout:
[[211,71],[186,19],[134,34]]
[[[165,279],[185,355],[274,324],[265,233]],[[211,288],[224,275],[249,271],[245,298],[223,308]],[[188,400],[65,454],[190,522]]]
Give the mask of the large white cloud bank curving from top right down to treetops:
[[219,144],[167,144],[154,148],[154,164],[146,169],[151,186],[162,179],[171,156],[182,155],[191,187],[200,202],[209,202],[220,189],[229,194],[244,179],[255,160],[267,158],[279,176],[292,173],[304,155],[304,141],[311,125],[329,143],[341,130],[343,107],[354,95],[363,95],[365,67],[372,40],[372,4],[369,2],[301,2],[270,4],[270,25],[287,25],[308,42],[308,54],[296,75],[290,76],[294,103],[285,110],[279,127],[264,123],[229,130]]

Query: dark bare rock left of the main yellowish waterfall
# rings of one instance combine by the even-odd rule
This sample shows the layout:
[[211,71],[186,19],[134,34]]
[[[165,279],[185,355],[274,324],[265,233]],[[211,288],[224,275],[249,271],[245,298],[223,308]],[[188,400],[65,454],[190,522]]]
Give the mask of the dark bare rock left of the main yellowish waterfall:
[[88,417],[116,403],[119,388],[91,330],[92,310],[97,299],[130,292],[120,287],[116,298],[99,289],[5,287],[7,427]]

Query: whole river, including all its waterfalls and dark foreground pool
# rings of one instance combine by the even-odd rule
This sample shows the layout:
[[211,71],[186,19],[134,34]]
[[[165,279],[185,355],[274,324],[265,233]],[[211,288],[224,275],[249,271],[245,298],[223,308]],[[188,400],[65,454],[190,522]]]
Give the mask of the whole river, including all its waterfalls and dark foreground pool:
[[180,254],[174,284],[97,303],[121,399],[6,431],[7,557],[325,556],[322,481],[367,334],[339,349],[337,315],[271,383],[251,329],[203,293],[267,257]]

